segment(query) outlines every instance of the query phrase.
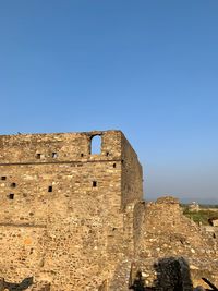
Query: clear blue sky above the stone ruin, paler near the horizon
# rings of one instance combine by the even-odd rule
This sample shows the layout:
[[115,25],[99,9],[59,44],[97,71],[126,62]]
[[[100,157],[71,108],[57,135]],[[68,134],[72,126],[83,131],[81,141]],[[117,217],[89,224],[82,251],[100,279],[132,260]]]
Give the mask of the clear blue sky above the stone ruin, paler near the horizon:
[[120,129],[146,197],[218,202],[218,1],[0,1],[0,134]]

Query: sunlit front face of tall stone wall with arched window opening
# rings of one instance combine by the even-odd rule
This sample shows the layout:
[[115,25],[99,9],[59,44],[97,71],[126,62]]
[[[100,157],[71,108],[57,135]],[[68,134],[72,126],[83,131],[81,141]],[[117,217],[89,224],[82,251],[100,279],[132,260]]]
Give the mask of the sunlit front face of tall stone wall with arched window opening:
[[[96,134],[100,155],[90,153]],[[135,163],[130,148],[122,156],[122,138],[119,131],[0,136],[1,277],[94,291],[113,276],[125,238],[122,160]]]

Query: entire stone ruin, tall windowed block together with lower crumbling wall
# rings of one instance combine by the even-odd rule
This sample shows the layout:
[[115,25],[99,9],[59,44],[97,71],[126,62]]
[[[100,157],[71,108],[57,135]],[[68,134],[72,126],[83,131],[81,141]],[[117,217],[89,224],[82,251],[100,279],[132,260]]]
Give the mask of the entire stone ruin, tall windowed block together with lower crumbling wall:
[[0,291],[218,282],[217,239],[178,199],[143,201],[142,167],[120,131],[1,135],[0,199]]

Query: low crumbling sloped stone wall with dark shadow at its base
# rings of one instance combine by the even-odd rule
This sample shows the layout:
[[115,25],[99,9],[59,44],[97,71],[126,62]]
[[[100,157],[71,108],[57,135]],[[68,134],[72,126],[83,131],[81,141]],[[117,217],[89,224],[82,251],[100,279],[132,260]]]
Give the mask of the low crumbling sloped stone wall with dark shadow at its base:
[[[182,282],[187,286],[181,290],[192,290],[190,282],[204,284],[202,277],[218,283],[217,239],[184,217],[177,198],[161,197],[145,204],[143,217],[136,262],[147,287],[171,290],[165,287],[170,271],[167,262],[177,264],[181,259],[186,266]],[[171,282],[174,290],[173,279]]]

